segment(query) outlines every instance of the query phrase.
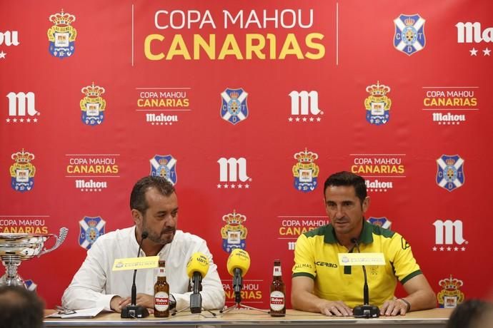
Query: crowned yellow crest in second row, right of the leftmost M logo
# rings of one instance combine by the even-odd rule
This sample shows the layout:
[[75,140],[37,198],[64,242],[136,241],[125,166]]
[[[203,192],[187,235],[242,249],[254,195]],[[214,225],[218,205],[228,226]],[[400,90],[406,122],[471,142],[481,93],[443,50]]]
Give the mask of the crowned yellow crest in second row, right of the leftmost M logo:
[[104,93],[104,88],[101,86],[84,86],[81,92],[86,95],[81,99],[81,120],[86,125],[99,125],[104,121],[104,110],[106,109],[106,101],[101,95]]

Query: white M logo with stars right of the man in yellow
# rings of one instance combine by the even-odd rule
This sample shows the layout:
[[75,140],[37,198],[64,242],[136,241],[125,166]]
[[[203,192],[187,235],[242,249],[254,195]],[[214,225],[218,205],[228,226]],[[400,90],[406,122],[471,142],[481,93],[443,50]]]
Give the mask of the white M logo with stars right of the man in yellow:
[[435,227],[435,246],[434,251],[458,252],[466,250],[465,245],[469,242],[464,240],[461,220],[436,220],[433,222]]

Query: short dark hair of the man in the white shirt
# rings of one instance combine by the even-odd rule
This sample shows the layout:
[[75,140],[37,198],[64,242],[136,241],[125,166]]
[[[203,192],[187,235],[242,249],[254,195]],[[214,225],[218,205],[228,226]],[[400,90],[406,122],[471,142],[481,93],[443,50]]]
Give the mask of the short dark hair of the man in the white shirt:
[[130,194],[130,210],[139,210],[145,213],[149,204],[146,202],[146,192],[150,188],[156,188],[161,195],[169,196],[175,192],[173,184],[161,176],[149,175],[141,178],[134,185]]

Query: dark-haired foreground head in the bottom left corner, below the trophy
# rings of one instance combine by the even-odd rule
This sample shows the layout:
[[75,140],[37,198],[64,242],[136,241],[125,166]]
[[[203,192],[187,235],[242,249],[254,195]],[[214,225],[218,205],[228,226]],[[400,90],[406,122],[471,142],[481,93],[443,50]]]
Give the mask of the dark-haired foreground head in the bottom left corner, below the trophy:
[[43,327],[44,302],[25,287],[1,286],[0,309],[1,327]]

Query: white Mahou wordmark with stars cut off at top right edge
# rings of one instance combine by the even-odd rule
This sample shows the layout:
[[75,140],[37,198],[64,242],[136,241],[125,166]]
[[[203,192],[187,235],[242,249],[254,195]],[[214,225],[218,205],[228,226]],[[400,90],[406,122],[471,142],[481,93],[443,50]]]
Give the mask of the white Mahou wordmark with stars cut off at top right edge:
[[[474,23],[470,21],[466,23],[459,21],[459,23],[455,24],[455,27],[457,27],[457,43],[493,42],[493,27],[481,30],[481,23],[479,21],[475,21]],[[471,56],[478,56],[478,51],[482,51],[482,53],[479,53],[479,56],[491,56],[491,49],[487,45],[484,48],[478,45],[478,49],[474,46],[469,49]]]

